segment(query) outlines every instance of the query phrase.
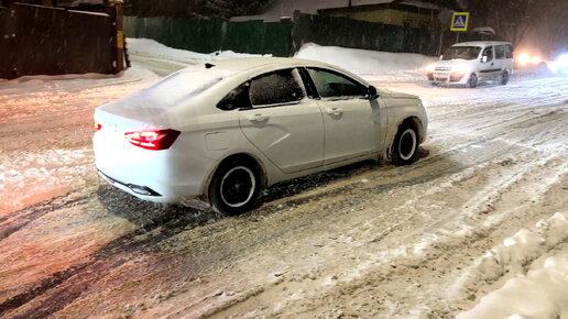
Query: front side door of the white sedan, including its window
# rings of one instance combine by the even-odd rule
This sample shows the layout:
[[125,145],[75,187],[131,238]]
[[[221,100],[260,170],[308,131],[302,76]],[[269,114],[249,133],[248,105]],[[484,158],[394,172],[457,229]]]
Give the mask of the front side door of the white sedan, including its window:
[[307,68],[324,116],[324,164],[375,153],[382,147],[380,105],[368,87],[343,74]]

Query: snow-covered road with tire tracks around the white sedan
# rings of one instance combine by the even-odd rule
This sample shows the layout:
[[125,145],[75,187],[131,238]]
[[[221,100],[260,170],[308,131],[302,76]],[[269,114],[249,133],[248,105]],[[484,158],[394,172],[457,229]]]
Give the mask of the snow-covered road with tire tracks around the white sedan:
[[94,108],[210,58],[131,52],[121,77],[0,82],[0,317],[568,318],[567,78],[363,75],[423,98],[420,160],[277,185],[226,218],[97,178]]

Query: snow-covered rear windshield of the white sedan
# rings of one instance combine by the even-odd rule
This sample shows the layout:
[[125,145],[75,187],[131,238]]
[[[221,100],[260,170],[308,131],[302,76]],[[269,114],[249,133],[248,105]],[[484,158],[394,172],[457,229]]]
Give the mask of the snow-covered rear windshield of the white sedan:
[[155,82],[140,91],[144,105],[152,108],[170,108],[208,90],[229,76],[229,72],[188,68]]

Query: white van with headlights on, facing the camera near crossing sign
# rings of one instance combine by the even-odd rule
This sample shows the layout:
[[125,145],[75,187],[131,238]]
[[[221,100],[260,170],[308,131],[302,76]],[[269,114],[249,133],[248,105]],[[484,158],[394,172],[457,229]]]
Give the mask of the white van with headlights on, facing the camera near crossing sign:
[[462,42],[450,46],[426,68],[433,84],[474,88],[479,81],[499,79],[506,85],[513,74],[513,45],[503,41]]

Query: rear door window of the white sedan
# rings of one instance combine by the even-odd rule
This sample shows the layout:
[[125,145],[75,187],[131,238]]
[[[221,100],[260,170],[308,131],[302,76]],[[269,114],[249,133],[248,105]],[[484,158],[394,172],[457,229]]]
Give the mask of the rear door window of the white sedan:
[[252,79],[250,101],[253,107],[301,101],[306,97],[296,69],[282,69],[263,74]]

